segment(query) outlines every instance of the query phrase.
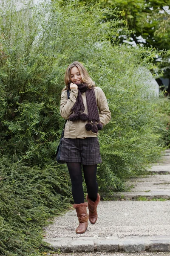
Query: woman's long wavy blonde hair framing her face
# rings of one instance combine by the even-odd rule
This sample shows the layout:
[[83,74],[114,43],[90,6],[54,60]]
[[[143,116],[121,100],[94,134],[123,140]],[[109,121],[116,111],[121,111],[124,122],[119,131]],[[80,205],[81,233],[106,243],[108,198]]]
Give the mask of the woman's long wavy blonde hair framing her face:
[[79,62],[79,61],[74,61],[73,63],[71,63],[67,70],[65,71],[65,77],[64,77],[64,81],[65,81],[65,87],[62,89],[62,91],[67,90],[68,89],[68,84],[71,83],[70,80],[70,72],[72,67],[77,67],[79,70],[79,73],[82,77],[82,83],[83,84],[87,84],[88,88],[91,89],[92,87],[95,87],[95,83],[94,81],[91,79],[91,77],[89,76],[87,70],[85,69],[85,67]]

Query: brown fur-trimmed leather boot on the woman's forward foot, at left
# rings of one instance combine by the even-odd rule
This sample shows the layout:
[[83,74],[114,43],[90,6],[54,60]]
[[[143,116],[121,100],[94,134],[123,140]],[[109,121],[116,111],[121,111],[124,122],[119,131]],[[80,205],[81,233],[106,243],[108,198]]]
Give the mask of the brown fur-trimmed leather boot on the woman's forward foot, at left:
[[79,226],[76,229],[76,234],[83,234],[88,228],[88,213],[87,207],[88,203],[74,204],[73,207],[76,209],[77,217],[79,219]]

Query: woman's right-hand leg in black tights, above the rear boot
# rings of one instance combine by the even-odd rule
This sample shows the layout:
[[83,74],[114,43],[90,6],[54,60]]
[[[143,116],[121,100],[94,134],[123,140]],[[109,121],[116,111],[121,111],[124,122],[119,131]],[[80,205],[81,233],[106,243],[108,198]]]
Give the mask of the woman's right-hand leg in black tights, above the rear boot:
[[88,197],[95,202],[98,192],[98,184],[96,181],[97,164],[83,165],[83,172],[87,186]]

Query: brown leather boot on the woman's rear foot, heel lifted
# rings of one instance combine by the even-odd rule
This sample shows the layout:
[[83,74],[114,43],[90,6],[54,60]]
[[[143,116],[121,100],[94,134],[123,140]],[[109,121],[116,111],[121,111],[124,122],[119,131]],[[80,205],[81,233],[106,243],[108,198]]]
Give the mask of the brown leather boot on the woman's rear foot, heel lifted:
[[95,224],[97,221],[97,206],[99,204],[100,201],[100,195],[97,194],[97,199],[96,201],[92,201],[88,195],[87,195],[87,201],[88,201],[88,209],[89,209],[89,213],[88,213],[88,217],[89,217],[89,221],[91,224]]

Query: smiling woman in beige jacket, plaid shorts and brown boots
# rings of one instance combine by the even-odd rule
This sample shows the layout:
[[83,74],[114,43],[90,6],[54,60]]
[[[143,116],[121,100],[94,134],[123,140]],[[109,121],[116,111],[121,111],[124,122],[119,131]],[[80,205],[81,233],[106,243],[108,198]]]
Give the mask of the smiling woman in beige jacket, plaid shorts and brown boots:
[[[60,160],[67,163],[71,177],[73,207],[79,219],[76,233],[83,234],[88,227],[88,218],[91,224],[95,224],[97,220],[96,208],[100,196],[96,171],[97,164],[102,163],[97,134],[110,121],[111,112],[102,89],[95,86],[85,67],[78,61],[68,66],[65,84],[61,94],[60,113],[68,121],[62,139]],[[70,90],[70,99],[67,97],[67,90]],[[88,204],[84,202],[81,164]]]

